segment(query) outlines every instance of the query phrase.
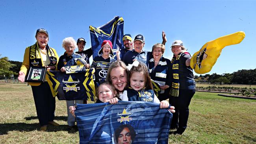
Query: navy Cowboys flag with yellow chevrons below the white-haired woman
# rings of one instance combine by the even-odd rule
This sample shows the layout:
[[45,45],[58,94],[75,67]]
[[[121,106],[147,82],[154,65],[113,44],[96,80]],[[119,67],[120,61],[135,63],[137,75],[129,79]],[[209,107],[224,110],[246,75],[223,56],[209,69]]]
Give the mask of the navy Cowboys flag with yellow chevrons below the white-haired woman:
[[95,85],[94,69],[84,72],[65,74],[60,71],[47,72],[45,77],[53,96],[59,100],[91,100],[94,101]]

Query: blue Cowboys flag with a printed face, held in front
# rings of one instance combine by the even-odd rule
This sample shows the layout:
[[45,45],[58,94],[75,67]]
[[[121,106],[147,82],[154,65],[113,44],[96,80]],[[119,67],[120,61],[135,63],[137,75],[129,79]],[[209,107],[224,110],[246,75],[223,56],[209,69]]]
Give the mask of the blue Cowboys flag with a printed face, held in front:
[[77,104],[80,144],[168,144],[173,114],[159,103]]

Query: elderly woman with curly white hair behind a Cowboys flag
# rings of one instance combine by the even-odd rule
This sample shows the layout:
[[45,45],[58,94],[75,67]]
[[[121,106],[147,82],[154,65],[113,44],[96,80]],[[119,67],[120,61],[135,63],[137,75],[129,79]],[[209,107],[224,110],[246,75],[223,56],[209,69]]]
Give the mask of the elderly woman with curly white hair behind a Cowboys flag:
[[[58,70],[65,72],[65,66],[77,65],[77,59],[82,58],[80,54],[75,54],[74,50],[77,47],[76,41],[72,37],[67,37],[63,39],[62,47],[66,50],[63,55],[59,57]],[[76,102],[75,102],[76,101]],[[83,100],[67,100],[67,113],[68,113],[68,124],[69,133],[76,132],[75,118],[69,113],[69,107],[73,106],[75,103],[82,104]]]

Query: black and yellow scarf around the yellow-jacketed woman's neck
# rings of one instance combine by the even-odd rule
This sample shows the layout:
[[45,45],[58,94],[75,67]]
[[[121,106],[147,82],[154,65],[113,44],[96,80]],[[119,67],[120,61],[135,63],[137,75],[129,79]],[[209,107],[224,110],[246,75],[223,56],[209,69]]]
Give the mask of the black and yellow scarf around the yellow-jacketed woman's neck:
[[[50,59],[50,65],[55,65],[57,63],[56,55],[54,54],[52,48],[46,45],[46,51],[48,53],[49,59]],[[35,42],[32,46],[30,46],[30,52],[29,52],[29,63],[33,66],[43,66],[41,55],[39,52],[38,43]]]

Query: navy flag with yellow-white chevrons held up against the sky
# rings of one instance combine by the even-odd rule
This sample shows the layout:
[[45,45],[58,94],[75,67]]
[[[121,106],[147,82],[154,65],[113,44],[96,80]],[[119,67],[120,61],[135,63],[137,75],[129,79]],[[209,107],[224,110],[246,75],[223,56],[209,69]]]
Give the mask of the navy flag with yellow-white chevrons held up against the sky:
[[[113,44],[113,57],[116,57],[116,51],[124,48],[122,37],[124,36],[124,20],[122,17],[115,17],[107,24],[99,28],[89,26],[91,33],[91,48],[93,50],[93,58],[98,55],[101,44],[104,40],[109,40]],[[123,54],[120,54],[122,57]]]

